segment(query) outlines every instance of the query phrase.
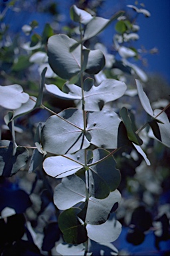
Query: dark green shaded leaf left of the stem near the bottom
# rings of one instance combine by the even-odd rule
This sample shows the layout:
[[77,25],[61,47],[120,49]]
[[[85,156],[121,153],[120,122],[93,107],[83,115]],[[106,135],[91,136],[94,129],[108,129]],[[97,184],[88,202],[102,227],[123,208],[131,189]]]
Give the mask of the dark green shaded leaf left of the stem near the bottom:
[[88,240],[86,227],[77,217],[79,211],[78,208],[70,208],[63,211],[58,218],[58,225],[66,243],[80,244]]

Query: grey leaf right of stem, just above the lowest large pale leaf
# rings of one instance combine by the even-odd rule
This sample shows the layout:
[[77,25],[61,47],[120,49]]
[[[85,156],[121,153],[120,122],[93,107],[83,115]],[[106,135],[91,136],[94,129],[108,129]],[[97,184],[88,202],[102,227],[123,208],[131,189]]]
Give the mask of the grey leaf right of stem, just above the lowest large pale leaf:
[[86,223],[91,225],[101,225],[106,222],[110,211],[115,203],[120,203],[121,195],[116,189],[105,199],[90,197],[86,213]]

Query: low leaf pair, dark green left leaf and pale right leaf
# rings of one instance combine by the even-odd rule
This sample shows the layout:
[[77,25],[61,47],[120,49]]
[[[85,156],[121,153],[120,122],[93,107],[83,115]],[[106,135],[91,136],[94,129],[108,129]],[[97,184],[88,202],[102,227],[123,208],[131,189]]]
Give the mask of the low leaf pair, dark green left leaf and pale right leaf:
[[116,219],[108,219],[100,225],[84,225],[79,213],[80,208],[70,208],[60,214],[58,225],[66,243],[85,243],[88,238],[97,243],[111,243],[119,237],[122,225]]

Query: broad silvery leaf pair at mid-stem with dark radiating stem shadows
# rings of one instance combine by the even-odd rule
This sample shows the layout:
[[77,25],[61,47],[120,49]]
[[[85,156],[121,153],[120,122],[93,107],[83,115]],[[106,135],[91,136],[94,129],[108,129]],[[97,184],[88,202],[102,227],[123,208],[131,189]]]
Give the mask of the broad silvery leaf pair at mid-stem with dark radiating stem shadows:
[[118,115],[108,109],[88,113],[84,131],[83,112],[79,109],[66,109],[48,118],[41,134],[43,151],[64,155],[86,149],[90,144],[105,149],[118,146]]

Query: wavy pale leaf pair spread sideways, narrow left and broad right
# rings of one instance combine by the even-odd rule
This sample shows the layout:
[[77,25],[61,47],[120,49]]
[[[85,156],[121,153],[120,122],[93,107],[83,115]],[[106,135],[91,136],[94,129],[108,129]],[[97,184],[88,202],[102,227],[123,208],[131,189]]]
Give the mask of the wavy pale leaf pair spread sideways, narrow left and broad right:
[[[62,99],[72,99],[78,109],[82,109],[82,89],[74,84],[65,83],[62,91],[56,85],[45,85],[46,90]],[[115,79],[105,79],[95,86],[94,80],[87,78],[84,81],[84,110],[100,111],[102,105],[122,97],[127,87],[124,82]]]

